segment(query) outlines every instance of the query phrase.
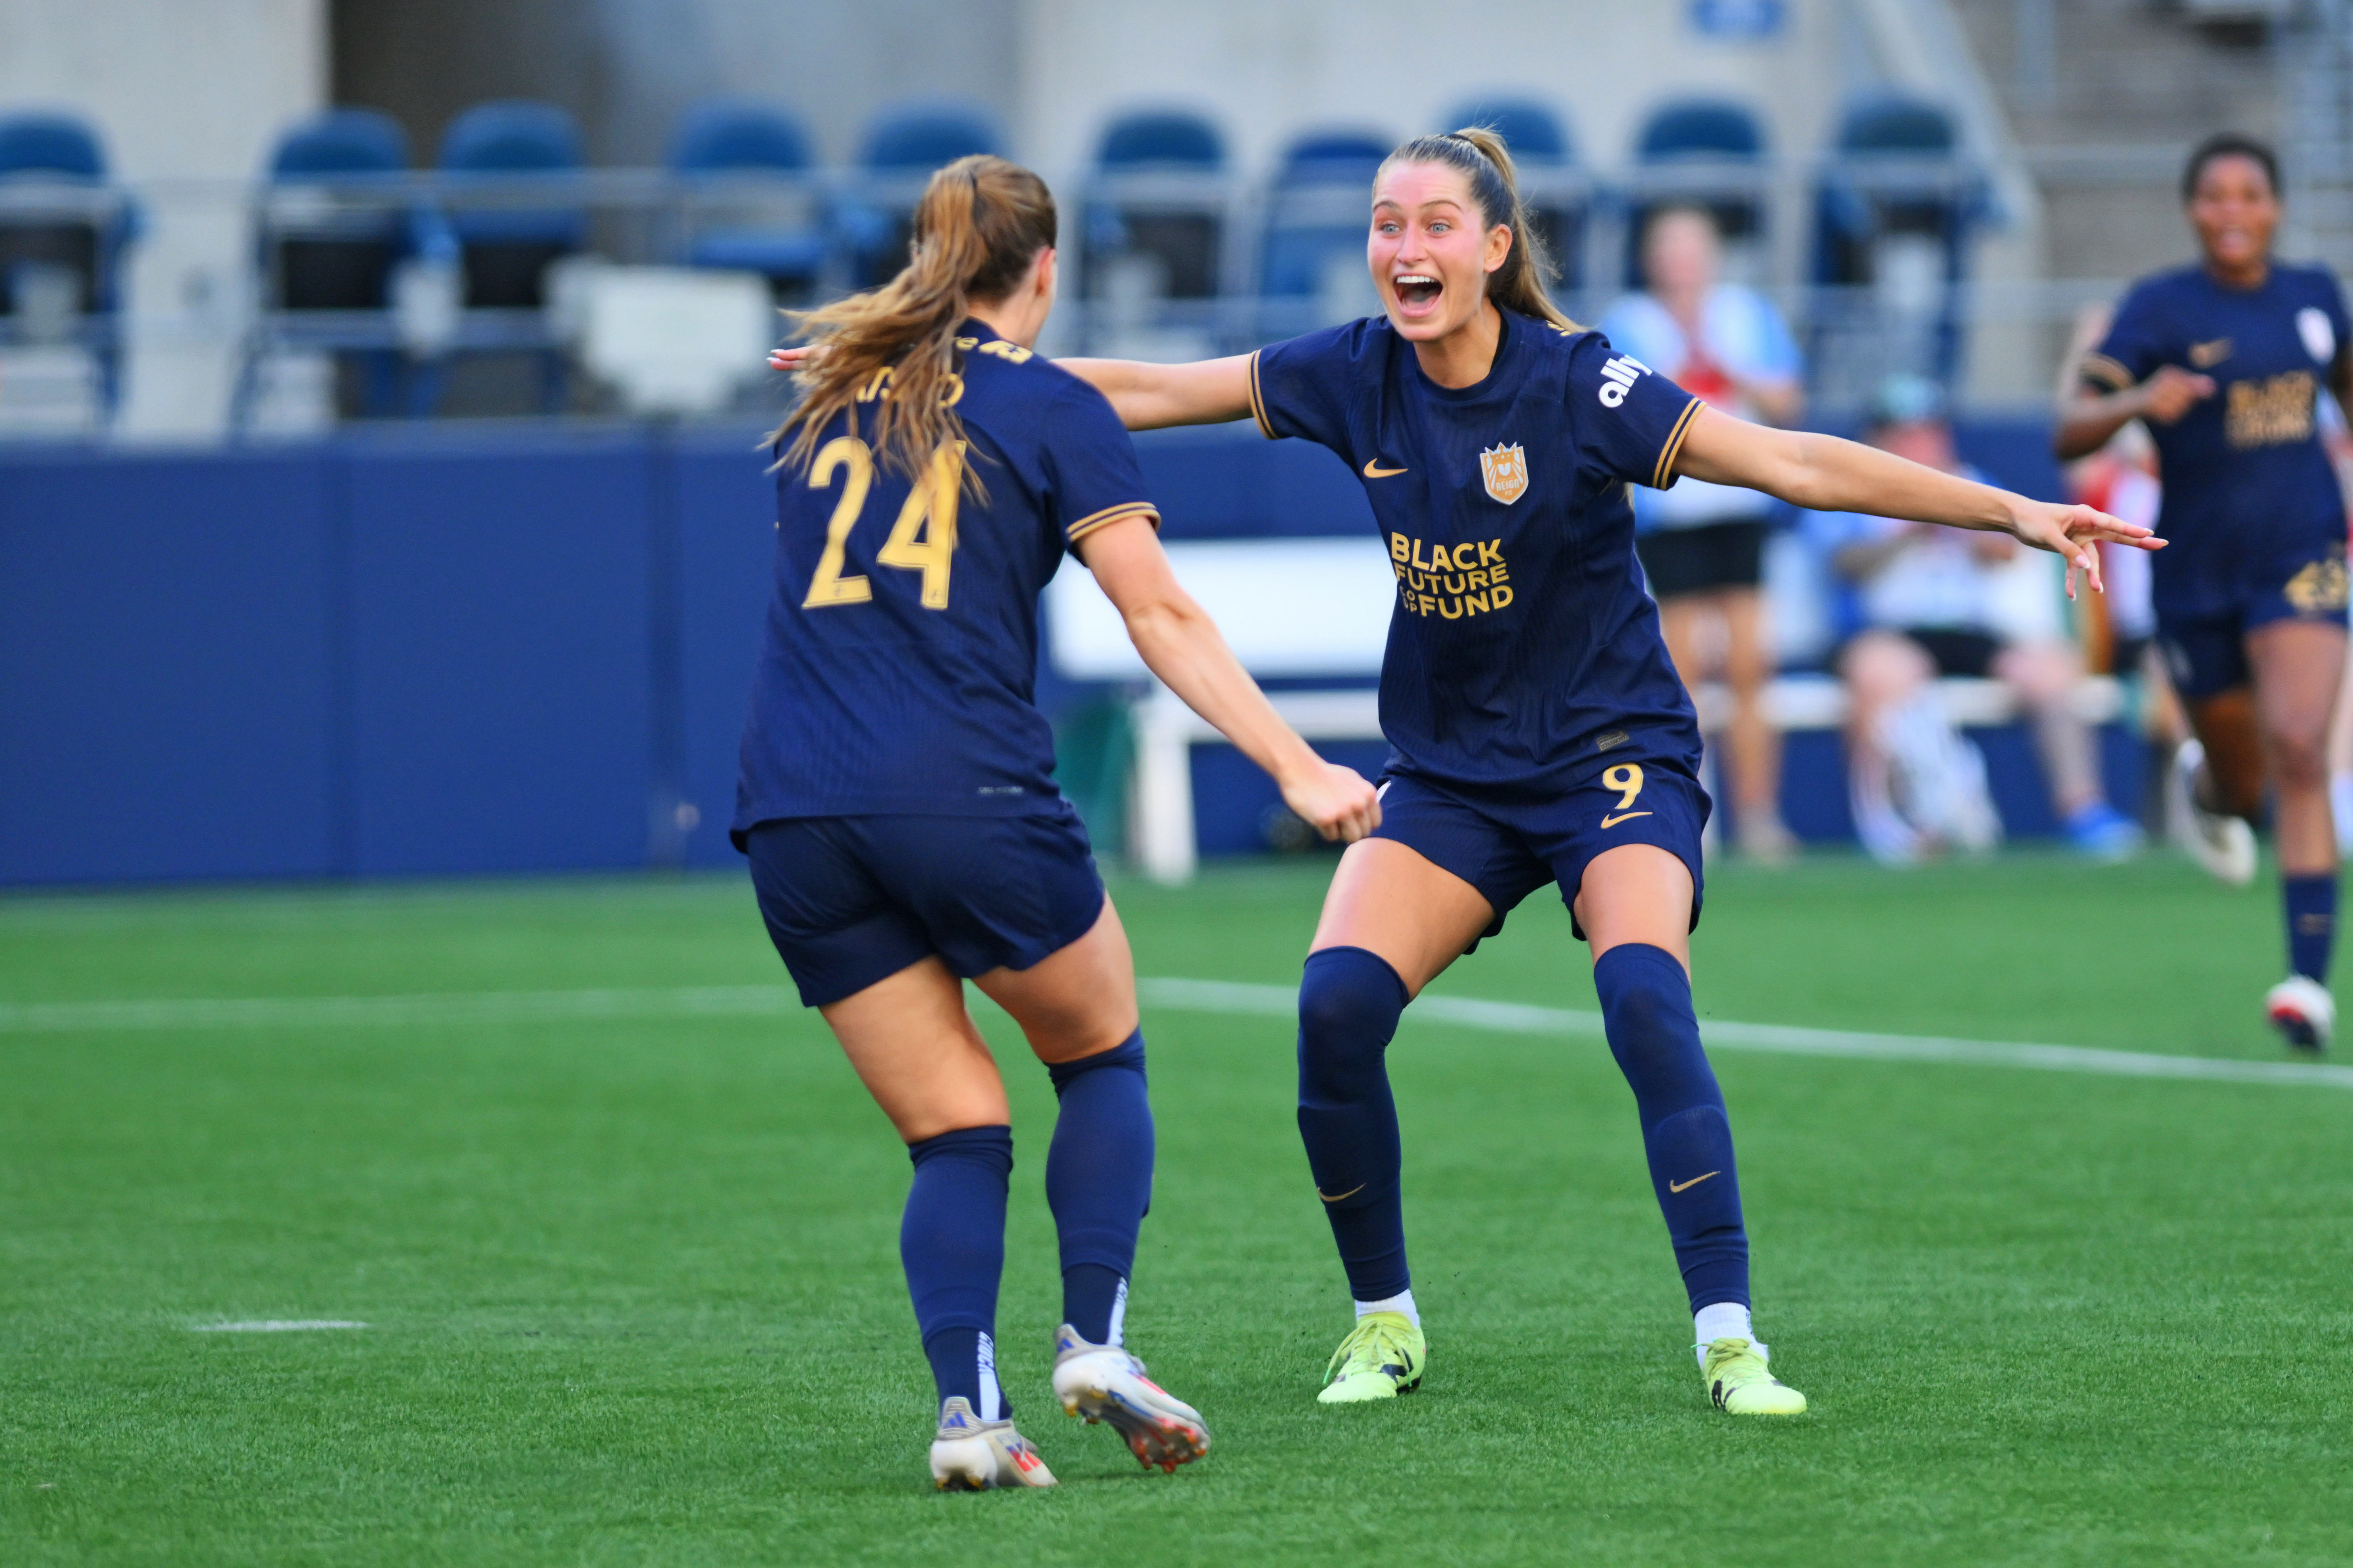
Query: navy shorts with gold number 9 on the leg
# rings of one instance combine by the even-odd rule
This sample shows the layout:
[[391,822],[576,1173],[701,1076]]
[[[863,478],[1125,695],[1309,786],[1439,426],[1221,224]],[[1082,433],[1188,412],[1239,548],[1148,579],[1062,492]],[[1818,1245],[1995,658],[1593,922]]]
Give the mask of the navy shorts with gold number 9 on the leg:
[[[1699,830],[1708,825],[1708,792],[1699,780],[1661,762],[1621,762],[1588,783],[1541,802],[1494,799],[1431,783],[1414,773],[1381,780],[1381,825],[1372,837],[1395,839],[1440,870],[1449,870],[1494,905],[1494,924],[1541,889],[1560,884],[1560,903],[1577,924],[1577,889],[1593,856],[1619,844],[1657,844],[1692,870],[1692,929],[1706,879],[1699,867]],[[1471,952],[1471,943],[1464,952]]]

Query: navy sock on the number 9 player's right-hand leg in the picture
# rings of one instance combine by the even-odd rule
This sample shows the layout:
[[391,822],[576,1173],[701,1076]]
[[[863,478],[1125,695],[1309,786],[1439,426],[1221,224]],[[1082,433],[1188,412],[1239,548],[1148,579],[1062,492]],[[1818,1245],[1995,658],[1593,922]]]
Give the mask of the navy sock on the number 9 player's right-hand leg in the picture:
[[1593,990],[1602,999],[1609,1053],[1642,1117],[1649,1185],[1659,1194],[1692,1312],[1715,1302],[1746,1307],[1741,1178],[1732,1166],[1725,1095],[1699,1048],[1692,978],[1664,947],[1626,943],[1593,964]]

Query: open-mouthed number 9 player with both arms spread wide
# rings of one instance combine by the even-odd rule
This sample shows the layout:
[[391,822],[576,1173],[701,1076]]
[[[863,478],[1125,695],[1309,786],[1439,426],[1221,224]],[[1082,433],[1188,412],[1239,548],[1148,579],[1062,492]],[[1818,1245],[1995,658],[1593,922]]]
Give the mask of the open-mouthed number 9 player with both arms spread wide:
[[1492,132],[1391,153],[1367,261],[1379,317],[1200,364],[1066,360],[1129,428],[1254,416],[1329,447],[1362,475],[1395,564],[1384,816],[1341,856],[1299,987],[1299,1133],[1358,1312],[1320,1399],[1388,1399],[1428,1356],[1384,1065],[1398,1018],[1558,884],[1591,943],[1708,1394],[1734,1415],[1800,1413],[1751,1328],[1732,1124],[1692,1011],[1699,722],[1642,592],[1626,491],[1689,475],[2005,531],[2066,555],[2071,585],[2073,567],[2097,581],[2092,543],[2146,531],[1708,409],[1546,299]]

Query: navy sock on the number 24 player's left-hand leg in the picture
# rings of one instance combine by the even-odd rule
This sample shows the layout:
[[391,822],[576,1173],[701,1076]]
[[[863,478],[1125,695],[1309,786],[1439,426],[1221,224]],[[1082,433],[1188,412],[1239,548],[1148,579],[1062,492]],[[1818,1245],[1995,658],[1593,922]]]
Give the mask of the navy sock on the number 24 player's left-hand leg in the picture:
[[965,1126],[906,1145],[915,1185],[899,1222],[899,1262],[915,1300],[939,1396],[969,1399],[981,1420],[1012,1415],[998,1387],[998,1279],[1005,1274],[1009,1126]]

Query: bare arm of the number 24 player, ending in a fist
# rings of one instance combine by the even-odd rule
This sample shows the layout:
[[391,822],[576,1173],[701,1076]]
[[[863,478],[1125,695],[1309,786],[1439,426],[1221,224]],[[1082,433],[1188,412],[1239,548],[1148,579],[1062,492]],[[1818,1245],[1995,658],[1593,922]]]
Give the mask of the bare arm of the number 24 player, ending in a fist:
[[1282,722],[1217,623],[1176,583],[1151,522],[1108,522],[1078,541],[1078,552],[1127,621],[1144,665],[1266,769],[1282,788],[1282,804],[1322,837],[1348,844],[1381,825],[1381,797],[1355,769],[1325,762]]

